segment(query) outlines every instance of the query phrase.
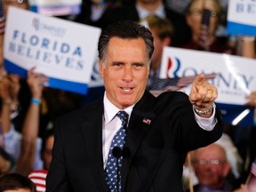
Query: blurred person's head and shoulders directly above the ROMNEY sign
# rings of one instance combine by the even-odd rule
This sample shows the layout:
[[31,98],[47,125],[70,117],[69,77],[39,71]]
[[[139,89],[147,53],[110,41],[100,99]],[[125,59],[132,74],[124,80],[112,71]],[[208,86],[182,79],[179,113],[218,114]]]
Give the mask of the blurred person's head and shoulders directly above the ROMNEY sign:
[[228,39],[216,36],[221,10],[219,0],[191,0],[188,4],[186,18],[192,36],[188,44],[183,44],[180,47],[236,54],[236,48],[228,44]]

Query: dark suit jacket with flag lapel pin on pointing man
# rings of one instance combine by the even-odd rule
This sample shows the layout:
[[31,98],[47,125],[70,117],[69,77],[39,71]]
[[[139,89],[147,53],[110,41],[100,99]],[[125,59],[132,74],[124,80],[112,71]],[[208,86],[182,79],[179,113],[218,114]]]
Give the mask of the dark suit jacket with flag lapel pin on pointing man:
[[[107,192],[102,160],[103,101],[64,116],[55,124],[52,164],[47,192]],[[130,156],[122,166],[125,192],[182,191],[181,175],[189,150],[218,140],[219,123],[212,132],[198,126],[188,96],[165,92],[155,98],[145,92],[134,106],[125,147]],[[150,124],[143,119],[151,120]]]

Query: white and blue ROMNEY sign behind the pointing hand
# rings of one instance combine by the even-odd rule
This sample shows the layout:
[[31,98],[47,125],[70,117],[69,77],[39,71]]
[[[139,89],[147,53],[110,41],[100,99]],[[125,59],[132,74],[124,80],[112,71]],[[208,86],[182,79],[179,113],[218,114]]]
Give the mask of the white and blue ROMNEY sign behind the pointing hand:
[[[246,96],[256,91],[256,60],[222,53],[164,48],[161,78],[196,76],[200,73],[215,73],[215,78],[208,81],[218,88],[216,102],[223,107],[222,114],[227,117],[230,115],[229,109],[232,113],[237,110],[236,116],[244,112]],[[190,88],[188,86],[182,91],[189,93]],[[231,108],[230,105],[236,108]],[[252,110],[246,116],[252,117]],[[234,118],[228,119],[228,122],[232,122],[231,120]]]

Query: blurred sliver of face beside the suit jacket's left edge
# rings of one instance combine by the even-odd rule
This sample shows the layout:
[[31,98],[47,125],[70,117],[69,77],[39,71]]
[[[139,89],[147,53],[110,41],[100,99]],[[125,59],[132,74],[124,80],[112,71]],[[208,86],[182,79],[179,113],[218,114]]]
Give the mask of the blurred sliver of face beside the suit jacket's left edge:
[[53,148],[54,136],[50,136],[46,142],[43,152],[43,160],[44,160],[44,169],[49,170],[51,161],[52,161],[52,148]]

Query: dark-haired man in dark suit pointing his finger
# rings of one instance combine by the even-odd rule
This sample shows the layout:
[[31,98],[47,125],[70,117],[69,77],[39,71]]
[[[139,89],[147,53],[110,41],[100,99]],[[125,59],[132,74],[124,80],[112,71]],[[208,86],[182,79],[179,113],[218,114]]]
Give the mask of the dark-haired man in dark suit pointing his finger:
[[[104,98],[55,122],[46,191],[182,191],[187,152],[222,134],[213,103],[216,87],[201,74],[189,97],[183,92],[164,92],[155,98],[145,91],[154,42],[148,28],[133,21],[105,28],[98,51]],[[124,145],[114,153],[112,139],[124,128],[117,117],[120,110],[129,118]],[[116,157],[113,190],[106,181],[109,156]],[[117,163],[120,159],[122,167]]]

